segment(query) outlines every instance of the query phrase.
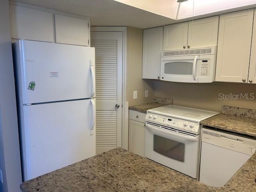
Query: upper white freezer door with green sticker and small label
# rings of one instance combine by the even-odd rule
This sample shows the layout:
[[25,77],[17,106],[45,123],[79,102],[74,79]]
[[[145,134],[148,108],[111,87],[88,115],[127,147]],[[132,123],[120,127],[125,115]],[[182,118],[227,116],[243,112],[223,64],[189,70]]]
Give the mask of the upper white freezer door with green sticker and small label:
[[17,44],[23,104],[91,98],[94,48],[27,40]]

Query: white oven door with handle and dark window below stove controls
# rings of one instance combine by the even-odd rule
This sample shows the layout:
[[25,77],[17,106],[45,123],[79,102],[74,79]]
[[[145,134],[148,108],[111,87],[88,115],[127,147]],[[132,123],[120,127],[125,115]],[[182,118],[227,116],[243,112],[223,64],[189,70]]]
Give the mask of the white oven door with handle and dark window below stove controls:
[[146,122],[145,156],[192,178],[198,175],[199,138]]

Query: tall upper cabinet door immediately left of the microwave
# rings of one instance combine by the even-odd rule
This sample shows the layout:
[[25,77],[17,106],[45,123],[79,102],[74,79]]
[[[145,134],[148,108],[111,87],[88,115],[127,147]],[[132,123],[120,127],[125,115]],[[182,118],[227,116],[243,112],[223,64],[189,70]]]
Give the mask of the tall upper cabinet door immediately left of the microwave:
[[159,79],[163,44],[163,27],[143,31],[142,78]]

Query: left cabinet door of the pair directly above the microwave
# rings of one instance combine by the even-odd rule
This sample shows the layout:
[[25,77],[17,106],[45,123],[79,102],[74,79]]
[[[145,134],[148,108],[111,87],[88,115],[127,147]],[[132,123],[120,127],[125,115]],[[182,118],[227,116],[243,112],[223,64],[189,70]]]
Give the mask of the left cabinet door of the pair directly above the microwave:
[[188,22],[164,26],[163,50],[178,50],[187,47]]

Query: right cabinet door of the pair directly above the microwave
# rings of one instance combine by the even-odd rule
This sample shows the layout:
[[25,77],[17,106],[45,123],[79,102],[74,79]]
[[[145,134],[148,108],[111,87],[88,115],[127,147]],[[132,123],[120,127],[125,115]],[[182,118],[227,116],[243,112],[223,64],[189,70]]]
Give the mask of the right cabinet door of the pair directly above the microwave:
[[217,46],[219,16],[188,22],[188,48]]

